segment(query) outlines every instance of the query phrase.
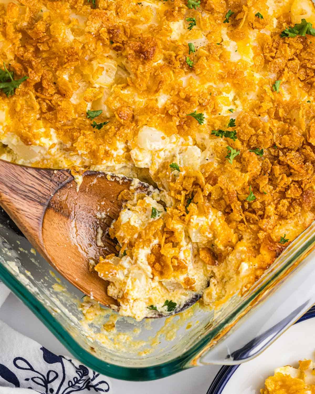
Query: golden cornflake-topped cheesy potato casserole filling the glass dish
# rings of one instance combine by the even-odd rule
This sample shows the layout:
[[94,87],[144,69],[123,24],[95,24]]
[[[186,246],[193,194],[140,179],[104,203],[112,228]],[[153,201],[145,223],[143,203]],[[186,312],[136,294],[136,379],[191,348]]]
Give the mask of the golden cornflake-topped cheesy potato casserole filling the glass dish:
[[313,221],[312,24],[310,0],[1,0],[0,68],[29,78],[0,89],[0,158],[158,187],[91,263],[120,314],[219,307]]

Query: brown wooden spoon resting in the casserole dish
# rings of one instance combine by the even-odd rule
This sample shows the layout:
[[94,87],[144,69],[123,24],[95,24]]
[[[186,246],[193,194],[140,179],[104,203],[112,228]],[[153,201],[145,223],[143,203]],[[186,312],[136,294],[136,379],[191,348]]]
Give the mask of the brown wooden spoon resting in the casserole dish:
[[[69,170],[25,167],[0,160],[0,206],[30,243],[69,282],[96,301],[117,309],[107,294],[107,282],[91,270],[90,261],[117,254],[108,228],[119,216],[132,179],[86,171],[80,188]],[[152,190],[152,188],[151,188]],[[139,182],[137,191],[149,193]],[[99,214],[97,214],[99,212]],[[98,242],[97,242],[98,234]],[[180,309],[195,303],[195,294]],[[163,314],[157,312],[155,317]]]

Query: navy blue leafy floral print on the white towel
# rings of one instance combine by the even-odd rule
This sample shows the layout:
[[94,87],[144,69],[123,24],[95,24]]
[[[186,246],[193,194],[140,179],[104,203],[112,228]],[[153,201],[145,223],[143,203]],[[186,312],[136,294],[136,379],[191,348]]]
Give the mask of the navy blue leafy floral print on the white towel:
[[45,394],[70,394],[73,392],[109,392],[109,383],[100,374],[71,359],[57,356],[44,347],[43,358],[30,362],[25,357],[15,357],[12,366],[0,364],[0,387],[32,388]]

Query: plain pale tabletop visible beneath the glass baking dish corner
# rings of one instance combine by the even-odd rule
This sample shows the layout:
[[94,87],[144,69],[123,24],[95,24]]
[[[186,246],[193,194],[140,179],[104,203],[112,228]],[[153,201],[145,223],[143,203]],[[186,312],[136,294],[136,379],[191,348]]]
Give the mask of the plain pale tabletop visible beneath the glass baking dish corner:
[[[43,323],[14,295],[0,308],[0,319],[58,355],[70,355]],[[178,374],[150,382],[130,382],[111,378],[116,394],[205,394],[221,366],[190,368]]]

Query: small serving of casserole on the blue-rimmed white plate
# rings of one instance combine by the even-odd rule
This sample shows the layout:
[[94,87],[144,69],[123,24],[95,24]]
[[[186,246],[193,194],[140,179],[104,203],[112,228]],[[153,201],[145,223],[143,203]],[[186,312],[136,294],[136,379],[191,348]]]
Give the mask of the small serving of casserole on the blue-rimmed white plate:
[[291,365],[276,368],[273,376],[265,381],[265,388],[261,394],[314,394],[315,393],[315,366],[311,360],[299,361],[299,367]]

